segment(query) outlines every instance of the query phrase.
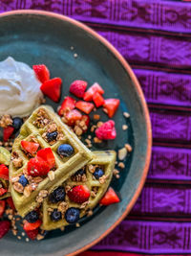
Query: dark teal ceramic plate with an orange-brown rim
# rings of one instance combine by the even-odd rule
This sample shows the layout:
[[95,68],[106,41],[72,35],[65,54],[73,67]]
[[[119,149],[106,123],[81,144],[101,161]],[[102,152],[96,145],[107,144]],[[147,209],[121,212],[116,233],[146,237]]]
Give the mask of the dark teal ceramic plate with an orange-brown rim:
[[[74,255],[96,244],[124,219],[144,184],[151,155],[151,126],[142,91],[133,71],[111,44],[68,17],[37,11],[3,13],[0,35],[0,60],[11,56],[31,66],[45,63],[52,77],[63,80],[62,99],[68,94],[70,83],[80,79],[89,84],[97,81],[105,89],[107,98],[120,99],[114,118],[117,140],[99,149],[117,150],[127,142],[134,149],[120,179],[112,183],[120,193],[121,202],[96,208],[92,218],[81,221],[80,228],[72,226],[65,232],[53,231],[44,241],[26,243],[25,239],[19,241],[11,234],[0,241],[0,254],[4,256]],[[54,109],[59,105],[49,100],[48,104]],[[123,117],[123,111],[130,113],[129,121]],[[105,114],[102,119],[107,120]],[[128,131],[121,129],[123,124],[129,126]]]

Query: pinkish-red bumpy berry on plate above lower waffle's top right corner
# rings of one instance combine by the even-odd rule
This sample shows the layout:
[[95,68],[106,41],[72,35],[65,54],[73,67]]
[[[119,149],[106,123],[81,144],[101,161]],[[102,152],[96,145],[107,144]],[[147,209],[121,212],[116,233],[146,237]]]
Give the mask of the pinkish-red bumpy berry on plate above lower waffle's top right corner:
[[115,122],[109,120],[103,123],[99,128],[96,128],[96,137],[99,140],[114,140],[117,137]]

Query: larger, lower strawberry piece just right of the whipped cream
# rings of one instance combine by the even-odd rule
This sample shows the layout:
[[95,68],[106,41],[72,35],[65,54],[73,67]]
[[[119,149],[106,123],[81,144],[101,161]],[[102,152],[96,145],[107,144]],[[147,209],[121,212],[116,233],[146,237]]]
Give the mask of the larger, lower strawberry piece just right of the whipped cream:
[[62,80],[54,78],[53,80],[45,81],[40,86],[41,91],[48,96],[53,102],[57,103],[60,98]]

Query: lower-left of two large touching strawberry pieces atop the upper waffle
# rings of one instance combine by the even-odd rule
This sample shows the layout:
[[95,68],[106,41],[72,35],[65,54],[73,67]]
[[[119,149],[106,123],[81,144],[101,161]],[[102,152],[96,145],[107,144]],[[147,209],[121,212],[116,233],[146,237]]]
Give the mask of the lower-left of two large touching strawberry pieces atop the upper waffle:
[[50,167],[41,157],[36,156],[28,162],[27,170],[28,175],[43,176],[49,173]]

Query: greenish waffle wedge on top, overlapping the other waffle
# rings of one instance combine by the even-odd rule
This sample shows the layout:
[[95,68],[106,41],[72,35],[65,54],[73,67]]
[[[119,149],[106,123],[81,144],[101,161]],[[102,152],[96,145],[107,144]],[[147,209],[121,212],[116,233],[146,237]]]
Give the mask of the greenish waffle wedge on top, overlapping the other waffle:
[[[56,125],[58,132],[57,138],[55,141],[48,142],[46,137],[48,128],[53,128],[54,125]],[[30,160],[30,155],[21,149],[21,140],[35,141],[40,145],[41,149],[51,148],[55,157],[55,170],[53,170],[54,179],[51,180],[48,176],[46,176],[37,183],[37,187],[34,190],[27,190],[26,187],[26,193],[25,190],[24,193],[18,191],[18,188],[16,188],[16,191],[15,183],[13,183],[18,176],[23,174],[26,175],[27,164]],[[57,154],[56,150],[61,144],[65,143],[73,146],[74,153],[70,157],[61,158]],[[78,169],[86,165],[93,157],[94,154],[79,141],[73,131],[71,131],[65,124],[61,122],[60,118],[53,112],[51,107],[41,105],[34,110],[31,117],[20,129],[20,134],[15,139],[12,146],[10,188],[11,197],[18,214],[24,217],[28,212],[32,211],[32,209],[42,202],[40,202],[40,200],[36,201],[40,191],[51,188],[60,180],[64,182]],[[15,167],[13,162],[15,159],[22,160],[21,167]]]

